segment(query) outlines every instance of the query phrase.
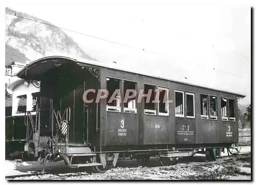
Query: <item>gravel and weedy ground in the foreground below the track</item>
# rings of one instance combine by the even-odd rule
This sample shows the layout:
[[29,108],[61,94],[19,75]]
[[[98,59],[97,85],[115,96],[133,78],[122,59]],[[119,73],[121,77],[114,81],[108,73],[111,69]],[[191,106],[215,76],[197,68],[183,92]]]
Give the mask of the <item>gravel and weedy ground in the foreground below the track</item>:
[[[240,168],[241,167],[241,168]],[[141,171],[143,169],[143,171]],[[241,170],[245,169],[245,171]],[[248,170],[249,169],[249,170]],[[124,172],[119,172],[127,170]],[[133,170],[133,171],[129,171]],[[45,174],[30,177],[18,177],[15,180],[32,180],[58,178],[68,176],[67,180],[250,180],[250,162],[236,161],[222,164],[211,164],[201,166],[169,166],[160,169],[147,169],[147,167],[111,169],[103,174],[89,174],[80,172],[65,174]]]

